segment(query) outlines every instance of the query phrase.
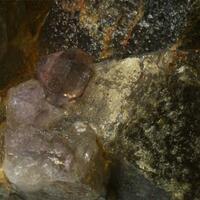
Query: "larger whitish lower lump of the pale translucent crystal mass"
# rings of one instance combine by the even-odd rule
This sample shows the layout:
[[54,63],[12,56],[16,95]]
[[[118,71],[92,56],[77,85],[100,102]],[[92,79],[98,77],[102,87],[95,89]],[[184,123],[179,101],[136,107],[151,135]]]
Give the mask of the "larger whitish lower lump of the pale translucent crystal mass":
[[103,192],[99,162],[103,158],[89,127],[80,133],[72,125],[61,134],[21,125],[6,130],[5,150],[5,174],[22,191],[37,191],[58,181],[74,186],[82,183]]

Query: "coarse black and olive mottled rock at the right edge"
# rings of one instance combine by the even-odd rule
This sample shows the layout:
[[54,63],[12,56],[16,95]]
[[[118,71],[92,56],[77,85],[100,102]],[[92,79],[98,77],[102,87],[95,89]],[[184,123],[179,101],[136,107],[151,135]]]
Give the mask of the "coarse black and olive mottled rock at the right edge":
[[198,51],[143,57],[132,117],[116,142],[120,152],[125,149],[122,155],[173,199],[199,198],[199,58]]

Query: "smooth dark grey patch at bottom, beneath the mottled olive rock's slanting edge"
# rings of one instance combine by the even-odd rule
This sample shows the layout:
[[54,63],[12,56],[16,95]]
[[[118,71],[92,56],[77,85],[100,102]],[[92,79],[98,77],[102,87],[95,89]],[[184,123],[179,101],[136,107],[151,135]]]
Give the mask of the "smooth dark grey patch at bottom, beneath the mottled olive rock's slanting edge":
[[170,195],[146,179],[134,165],[116,162],[112,169],[111,188],[117,200],[170,200]]

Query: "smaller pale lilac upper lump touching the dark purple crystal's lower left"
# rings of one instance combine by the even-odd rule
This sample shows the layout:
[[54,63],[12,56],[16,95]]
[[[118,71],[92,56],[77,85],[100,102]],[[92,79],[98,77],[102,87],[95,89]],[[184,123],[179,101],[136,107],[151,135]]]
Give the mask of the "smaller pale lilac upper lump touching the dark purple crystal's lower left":
[[63,111],[46,102],[44,91],[36,80],[21,83],[8,92],[6,118],[9,127],[26,124],[48,128],[63,114]]

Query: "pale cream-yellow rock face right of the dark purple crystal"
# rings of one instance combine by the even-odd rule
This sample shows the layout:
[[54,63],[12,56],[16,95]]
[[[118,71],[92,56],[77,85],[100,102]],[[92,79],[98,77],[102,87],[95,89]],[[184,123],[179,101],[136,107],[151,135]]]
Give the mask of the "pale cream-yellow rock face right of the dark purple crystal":
[[88,122],[105,143],[110,143],[119,124],[128,120],[128,97],[141,76],[140,59],[102,62],[93,71],[83,96],[66,106],[66,116]]

